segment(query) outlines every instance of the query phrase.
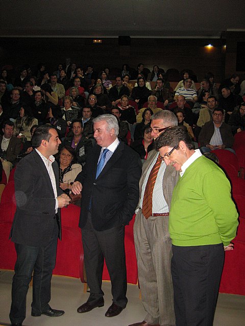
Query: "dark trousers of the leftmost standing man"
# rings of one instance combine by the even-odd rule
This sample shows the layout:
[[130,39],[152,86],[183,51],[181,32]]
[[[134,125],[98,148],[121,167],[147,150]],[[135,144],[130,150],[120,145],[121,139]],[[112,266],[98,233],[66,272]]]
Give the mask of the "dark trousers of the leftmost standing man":
[[26,300],[29,283],[33,273],[32,311],[41,313],[50,308],[51,278],[55,268],[58,225],[54,220],[52,239],[45,247],[32,247],[15,243],[17,260],[14,267],[12,283],[12,304],[10,320],[12,323],[22,323],[26,318]]

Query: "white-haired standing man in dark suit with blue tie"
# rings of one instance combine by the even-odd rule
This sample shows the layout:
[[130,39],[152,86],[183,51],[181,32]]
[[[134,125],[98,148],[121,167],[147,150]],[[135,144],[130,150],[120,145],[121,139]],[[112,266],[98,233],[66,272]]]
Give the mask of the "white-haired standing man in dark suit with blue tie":
[[93,121],[97,145],[71,187],[74,194],[82,191],[79,226],[90,288],[89,298],[78,312],[104,306],[101,284],[105,258],[113,296],[105,316],[113,317],[128,302],[124,234],[139,199],[141,162],[136,152],[119,142],[116,117],[100,115]]

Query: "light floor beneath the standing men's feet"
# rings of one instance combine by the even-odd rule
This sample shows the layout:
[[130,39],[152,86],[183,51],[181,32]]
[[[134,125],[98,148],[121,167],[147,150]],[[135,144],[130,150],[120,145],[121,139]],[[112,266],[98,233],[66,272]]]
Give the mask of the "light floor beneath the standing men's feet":
[[[9,324],[11,305],[11,284],[13,272],[0,272],[0,324]],[[127,326],[144,319],[144,309],[139,299],[137,285],[128,285],[128,305],[118,316],[108,318],[105,312],[111,305],[110,282],[103,282],[105,306],[79,314],[77,308],[86,302],[88,293],[83,293],[83,284],[79,279],[54,276],[52,279],[51,307],[65,310],[61,317],[51,318],[44,315],[31,316],[32,290],[27,296],[27,317],[24,326]],[[245,325],[245,296],[219,294],[214,326],[243,326]]]

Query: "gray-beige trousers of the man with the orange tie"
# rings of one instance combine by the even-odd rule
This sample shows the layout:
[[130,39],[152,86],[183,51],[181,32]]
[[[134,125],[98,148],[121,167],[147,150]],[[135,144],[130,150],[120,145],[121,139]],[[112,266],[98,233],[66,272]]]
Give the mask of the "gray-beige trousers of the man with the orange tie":
[[146,220],[139,209],[134,222],[134,242],[142,303],[147,312],[144,320],[161,326],[174,326],[168,216],[150,216]]

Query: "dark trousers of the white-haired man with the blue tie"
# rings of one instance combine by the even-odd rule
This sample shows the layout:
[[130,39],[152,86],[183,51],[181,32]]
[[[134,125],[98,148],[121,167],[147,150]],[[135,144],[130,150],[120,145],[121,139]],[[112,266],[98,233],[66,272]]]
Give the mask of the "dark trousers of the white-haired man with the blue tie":
[[103,300],[102,273],[104,258],[111,279],[113,303],[125,308],[128,302],[127,272],[124,247],[124,226],[115,226],[109,230],[96,231],[88,221],[82,229],[84,266],[90,288],[88,302],[94,305]]

